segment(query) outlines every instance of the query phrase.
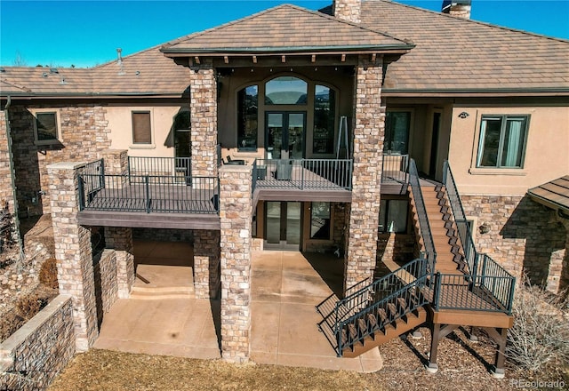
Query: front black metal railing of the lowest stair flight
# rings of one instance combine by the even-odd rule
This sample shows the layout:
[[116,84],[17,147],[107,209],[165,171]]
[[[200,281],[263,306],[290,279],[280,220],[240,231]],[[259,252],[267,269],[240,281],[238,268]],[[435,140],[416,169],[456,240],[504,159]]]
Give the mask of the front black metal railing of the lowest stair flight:
[[429,275],[429,260],[415,259],[338,301],[334,308],[337,355],[427,304],[422,289]]

